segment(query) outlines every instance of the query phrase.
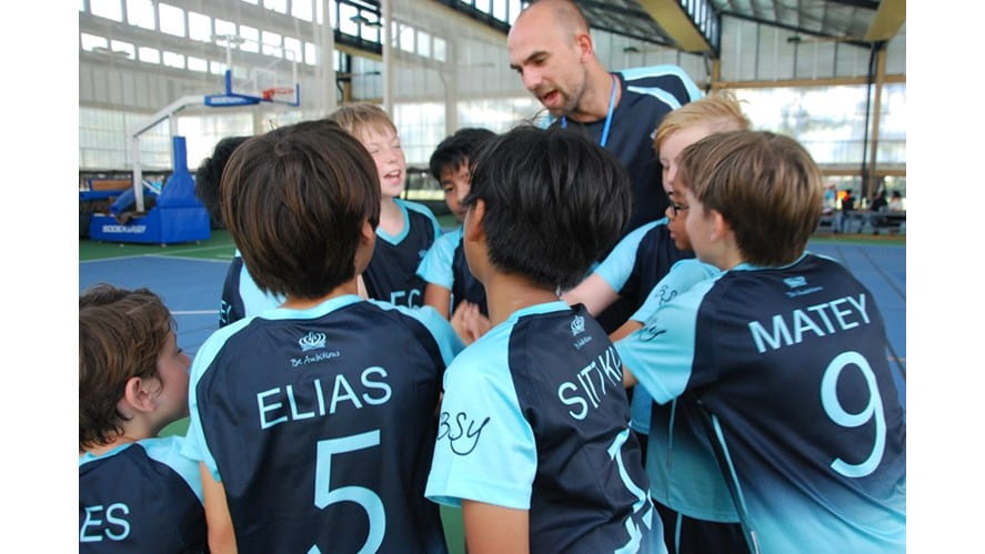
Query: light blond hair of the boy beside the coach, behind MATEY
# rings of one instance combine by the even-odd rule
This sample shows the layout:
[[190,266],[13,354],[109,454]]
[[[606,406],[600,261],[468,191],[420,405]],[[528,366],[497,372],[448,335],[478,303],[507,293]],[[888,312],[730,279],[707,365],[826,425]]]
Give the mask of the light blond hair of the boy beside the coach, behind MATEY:
[[667,137],[698,124],[711,125],[713,133],[745,131],[752,127],[742,112],[735,93],[731,90],[717,90],[664,115],[653,137],[653,149],[660,151],[660,145]]

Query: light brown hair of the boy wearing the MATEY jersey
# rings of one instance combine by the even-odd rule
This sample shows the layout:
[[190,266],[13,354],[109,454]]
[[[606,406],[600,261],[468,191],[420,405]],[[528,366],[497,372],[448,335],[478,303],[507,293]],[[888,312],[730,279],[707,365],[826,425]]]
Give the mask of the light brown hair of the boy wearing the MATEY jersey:
[[821,170],[797,141],[764,131],[712,134],[681,152],[677,179],[722,214],[745,261],[796,261],[817,229]]

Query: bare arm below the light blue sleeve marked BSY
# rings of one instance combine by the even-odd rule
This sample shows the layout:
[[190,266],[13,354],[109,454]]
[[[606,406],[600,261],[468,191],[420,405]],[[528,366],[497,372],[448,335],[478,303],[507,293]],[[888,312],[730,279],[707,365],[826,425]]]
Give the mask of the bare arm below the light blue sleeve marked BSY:
[[530,511],[462,501],[469,554],[530,552]]

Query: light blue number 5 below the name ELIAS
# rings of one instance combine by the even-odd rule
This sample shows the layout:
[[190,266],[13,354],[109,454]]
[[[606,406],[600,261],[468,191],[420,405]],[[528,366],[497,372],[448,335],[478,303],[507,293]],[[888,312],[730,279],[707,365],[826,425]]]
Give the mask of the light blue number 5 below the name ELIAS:
[[[356,450],[380,445],[380,430],[368,431],[358,435],[328,439],[318,442],[318,460],[314,470],[314,505],[320,510],[336,502],[355,502],[366,511],[370,520],[370,532],[360,554],[376,552],[383,544],[386,532],[386,513],[383,501],[373,491],[364,486],[340,486],[332,490],[332,456]],[[308,554],[320,554],[318,545],[312,546]]]

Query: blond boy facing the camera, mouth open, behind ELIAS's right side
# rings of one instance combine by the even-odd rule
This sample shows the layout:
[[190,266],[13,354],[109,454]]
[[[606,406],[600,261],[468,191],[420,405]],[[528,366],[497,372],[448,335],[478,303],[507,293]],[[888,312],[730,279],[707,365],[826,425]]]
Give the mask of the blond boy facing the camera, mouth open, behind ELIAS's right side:
[[379,174],[379,240],[373,259],[361,275],[365,293],[398,305],[420,306],[425,283],[416,274],[418,265],[441,234],[441,226],[428,207],[398,198],[406,179],[406,160],[396,127],[383,109],[365,102],[343,105],[329,120],[362,142]]

